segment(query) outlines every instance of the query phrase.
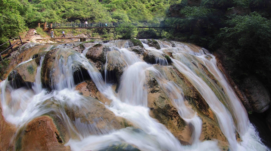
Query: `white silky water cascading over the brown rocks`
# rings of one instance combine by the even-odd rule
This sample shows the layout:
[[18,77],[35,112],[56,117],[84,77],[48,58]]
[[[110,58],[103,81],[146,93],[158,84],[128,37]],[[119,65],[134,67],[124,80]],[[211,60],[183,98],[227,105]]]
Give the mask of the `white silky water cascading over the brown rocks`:
[[[105,81],[99,70],[86,58],[87,52],[94,44],[83,50],[81,54],[70,49],[76,44],[50,47],[48,50],[58,49],[55,60],[51,62],[52,70],[48,80],[51,90],[42,88],[41,79],[44,77],[41,77],[41,74],[45,59],[42,56],[32,88],[12,87],[11,81],[8,79],[1,82],[2,114],[8,122],[15,124],[17,129],[23,128],[36,117],[45,114],[57,115],[69,134],[68,138],[70,139],[65,145],[76,151],[101,150],[120,142],[132,144],[142,151],[222,150],[215,139],[211,141],[200,140],[201,118],[184,98],[183,90],[185,89],[174,80],[170,80],[163,72],[162,68],[167,68],[163,66],[168,66],[164,56],[171,52],[172,65],[192,83],[215,114],[217,124],[229,142],[229,149],[233,151],[269,150],[261,143],[257,131],[249,123],[243,105],[225,76],[216,67],[213,55],[207,50],[189,44],[173,43],[174,47],[172,47],[173,44],[159,40],[157,42],[160,44],[160,50],[148,46],[148,40],[142,40],[145,49],[156,56],[155,63],[160,66],[142,61],[140,55],[128,50],[129,46],[125,41],[112,41],[103,44],[108,47],[105,52]],[[123,60],[116,61],[123,61],[126,64],[118,83],[117,92],[113,90],[112,84],[108,82],[106,77],[108,61],[112,59],[109,54],[117,54]],[[16,67],[30,61],[22,62]],[[201,70],[201,66],[213,75],[216,82]],[[81,70],[87,71],[98,91],[111,102],[97,102],[96,99],[82,96],[75,90],[76,82],[73,74],[75,72],[82,74]],[[192,131],[190,145],[182,145],[166,126],[150,115],[147,72],[154,76],[158,87],[161,87],[182,119],[188,123]],[[95,112],[93,112],[95,115],[87,116],[90,113],[87,113],[88,111],[98,110],[93,108],[94,104],[103,106],[117,117],[128,120],[132,123],[132,127],[125,126],[126,128],[115,129],[112,124],[113,120],[104,120],[102,116],[95,117]],[[80,114],[83,116],[71,118],[70,113],[76,111],[81,111]],[[105,109],[103,111],[105,112]],[[241,136],[239,142],[236,140],[236,131]]]

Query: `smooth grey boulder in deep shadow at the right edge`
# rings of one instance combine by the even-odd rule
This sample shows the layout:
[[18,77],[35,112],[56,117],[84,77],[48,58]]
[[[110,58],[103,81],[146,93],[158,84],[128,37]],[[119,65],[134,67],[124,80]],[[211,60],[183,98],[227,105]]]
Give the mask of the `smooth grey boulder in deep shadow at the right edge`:
[[242,88],[255,112],[263,113],[269,108],[270,94],[257,78],[246,78]]

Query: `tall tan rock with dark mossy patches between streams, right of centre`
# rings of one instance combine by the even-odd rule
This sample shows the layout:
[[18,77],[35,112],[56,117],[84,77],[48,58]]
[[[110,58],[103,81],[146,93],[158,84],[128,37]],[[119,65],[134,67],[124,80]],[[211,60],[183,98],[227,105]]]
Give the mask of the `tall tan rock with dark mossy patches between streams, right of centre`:
[[151,117],[164,124],[170,132],[179,139],[181,144],[188,145],[191,139],[191,130],[172,105],[167,94],[158,82],[149,74],[148,76],[148,107]]

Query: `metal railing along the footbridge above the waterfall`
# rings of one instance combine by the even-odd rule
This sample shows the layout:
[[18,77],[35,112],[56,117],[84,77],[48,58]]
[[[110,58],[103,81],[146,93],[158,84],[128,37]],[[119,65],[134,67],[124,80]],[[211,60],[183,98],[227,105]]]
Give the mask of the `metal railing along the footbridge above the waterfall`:
[[[107,26],[106,26],[107,24]],[[119,27],[120,25],[132,24],[139,28],[164,28],[169,27],[163,23],[146,23],[146,22],[62,22],[62,23],[47,23],[47,28],[89,28],[89,27]]]

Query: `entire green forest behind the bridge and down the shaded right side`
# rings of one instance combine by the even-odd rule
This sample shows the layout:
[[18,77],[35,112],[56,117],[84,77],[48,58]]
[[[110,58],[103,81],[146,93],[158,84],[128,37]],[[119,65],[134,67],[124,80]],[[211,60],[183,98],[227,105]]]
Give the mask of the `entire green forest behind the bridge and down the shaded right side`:
[[[269,0],[0,0],[0,43],[43,22],[163,22],[176,28],[146,30],[145,37],[220,52],[237,83],[255,76],[270,90],[270,19]],[[132,31],[121,37],[139,34]]]

